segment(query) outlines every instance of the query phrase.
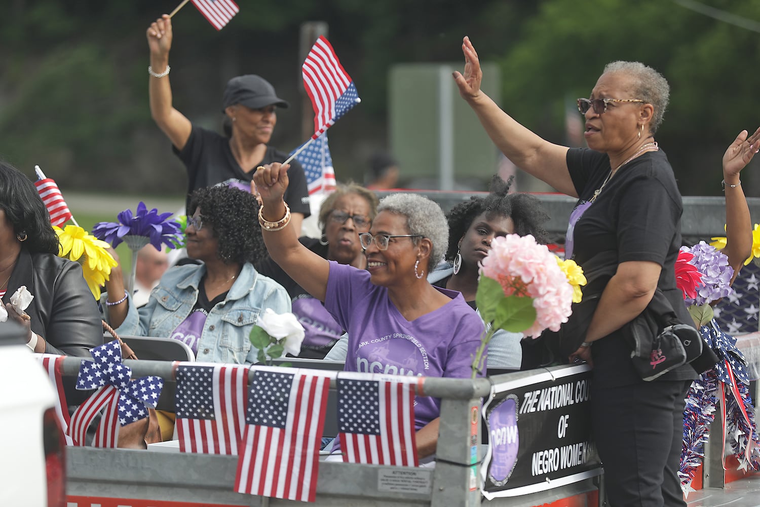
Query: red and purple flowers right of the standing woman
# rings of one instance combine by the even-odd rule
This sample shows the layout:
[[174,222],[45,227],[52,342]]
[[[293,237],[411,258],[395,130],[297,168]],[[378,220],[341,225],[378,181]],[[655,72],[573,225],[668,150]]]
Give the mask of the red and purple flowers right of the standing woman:
[[733,293],[733,268],[728,257],[704,241],[689,248],[682,246],[676,261],[676,284],[683,292],[695,325],[701,327],[713,318],[710,303]]

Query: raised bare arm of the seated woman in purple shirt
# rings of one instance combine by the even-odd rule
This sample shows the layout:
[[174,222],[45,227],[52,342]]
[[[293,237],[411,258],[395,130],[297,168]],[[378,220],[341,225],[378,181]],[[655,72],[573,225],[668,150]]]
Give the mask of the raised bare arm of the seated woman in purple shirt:
[[[286,216],[283,194],[288,185],[288,167],[272,163],[258,167],[253,175],[251,191],[261,195],[261,217],[268,222],[276,223]],[[262,223],[261,233],[269,255],[280,268],[306,292],[325,301],[330,263],[299,242],[293,221],[289,220],[281,230],[271,231]]]

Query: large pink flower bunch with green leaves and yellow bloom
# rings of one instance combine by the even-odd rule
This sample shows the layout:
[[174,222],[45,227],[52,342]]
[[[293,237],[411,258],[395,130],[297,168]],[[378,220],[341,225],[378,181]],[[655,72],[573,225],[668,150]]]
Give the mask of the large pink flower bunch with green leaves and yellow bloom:
[[493,239],[480,265],[475,297],[487,325],[473,361],[473,379],[483,369],[483,352],[496,331],[534,338],[545,329],[558,331],[572,313],[572,303],[580,303],[585,284],[575,261],[562,261],[530,234]]

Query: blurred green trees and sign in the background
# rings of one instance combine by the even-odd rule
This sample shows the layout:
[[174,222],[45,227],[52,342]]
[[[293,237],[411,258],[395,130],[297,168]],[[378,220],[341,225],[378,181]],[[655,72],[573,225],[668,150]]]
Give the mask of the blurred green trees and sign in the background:
[[[142,198],[174,211],[186,189],[182,163],[150,119],[145,30],[179,0],[3,0],[0,16],[0,157],[33,178],[54,178],[80,222],[115,220],[106,208]],[[302,29],[321,21],[362,103],[330,129],[337,179],[366,182],[369,160],[398,160],[399,186],[485,189],[499,157],[458,97],[469,35],[486,90],[549,141],[582,145],[577,97],[616,59],[657,68],[670,108],[657,141],[684,195],[720,195],[720,158],[743,128],[760,125],[760,0],[239,0],[214,30],[188,4],[173,18],[169,63],[174,105],[221,132],[221,95],[238,74],[261,74],[290,109],[271,144],[306,140],[312,111],[302,94]],[[306,108],[304,107],[306,106]],[[451,172],[444,182],[439,172]],[[760,176],[743,173],[747,195]],[[519,190],[546,191],[522,175]],[[100,201],[97,201],[100,199]],[[90,204],[88,204],[90,203]],[[97,208],[97,209],[95,209]]]

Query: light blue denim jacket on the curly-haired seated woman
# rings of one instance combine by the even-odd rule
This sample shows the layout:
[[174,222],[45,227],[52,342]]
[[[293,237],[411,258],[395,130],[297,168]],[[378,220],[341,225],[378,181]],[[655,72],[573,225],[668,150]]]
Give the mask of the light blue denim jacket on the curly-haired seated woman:
[[[166,271],[145,306],[138,310],[129,298],[127,316],[116,332],[124,336],[172,337],[192,312],[205,272],[204,265],[176,266]],[[251,347],[249,334],[258,314],[267,308],[275,313],[290,312],[290,296],[280,284],[258,274],[252,265],[243,265],[224,301],[208,313],[196,359],[205,363],[256,363],[258,350]]]

